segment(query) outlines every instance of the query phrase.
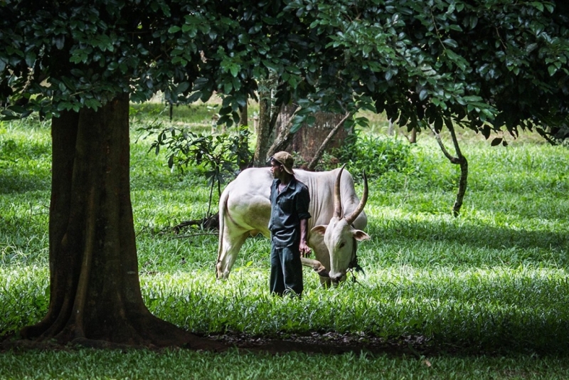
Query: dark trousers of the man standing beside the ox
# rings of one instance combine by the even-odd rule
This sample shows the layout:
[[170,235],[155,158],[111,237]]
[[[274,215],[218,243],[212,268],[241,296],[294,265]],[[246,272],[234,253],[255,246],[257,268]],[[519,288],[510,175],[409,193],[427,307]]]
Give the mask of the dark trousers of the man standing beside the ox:
[[277,295],[302,295],[302,262],[298,244],[289,247],[271,245],[270,291]]

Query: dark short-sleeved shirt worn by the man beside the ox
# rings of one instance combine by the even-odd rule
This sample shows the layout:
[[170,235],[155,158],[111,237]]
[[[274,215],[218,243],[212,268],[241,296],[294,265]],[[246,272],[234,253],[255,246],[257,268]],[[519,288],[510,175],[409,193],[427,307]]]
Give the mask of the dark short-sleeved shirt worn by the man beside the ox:
[[269,230],[275,246],[283,248],[300,243],[300,220],[310,218],[310,194],[307,186],[294,177],[280,194],[279,184],[279,179],[271,184]]

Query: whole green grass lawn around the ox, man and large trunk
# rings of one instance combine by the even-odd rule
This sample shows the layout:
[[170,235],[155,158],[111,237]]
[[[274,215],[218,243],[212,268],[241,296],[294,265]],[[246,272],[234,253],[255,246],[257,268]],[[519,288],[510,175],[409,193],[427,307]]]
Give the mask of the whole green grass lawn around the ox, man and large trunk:
[[[454,218],[458,169],[421,133],[410,149],[413,170],[388,171],[370,184],[372,239],[358,250],[366,275],[326,290],[305,269],[304,297],[294,302],[268,294],[267,240],[248,239],[229,280],[217,282],[217,236],[198,228],[172,231],[206,215],[209,189],[198,170],[172,173],[162,154],[148,153],[151,138],[139,138],[142,125],[170,123],[163,109],[142,105],[132,111],[139,271],[154,314],[197,334],[339,332],[394,342],[422,337],[440,354],[428,358],[428,366],[425,358],[353,354],[4,352],[0,378],[83,378],[101,361],[96,376],[102,379],[279,379],[285,373],[303,379],[554,379],[567,373],[565,361],[555,359],[569,353],[567,148],[531,135],[509,147],[490,147],[462,133],[469,187]],[[172,122],[209,132],[210,112],[208,105],[174,107],[179,118]],[[378,136],[384,129],[378,118],[368,132]],[[38,120],[4,122],[0,148],[1,336],[37,322],[48,305],[49,127]],[[361,193],[361,184],[357,188]],[[132,365],[141,361],[147,364]],[[74,362],[80,365],[71,369]]]

